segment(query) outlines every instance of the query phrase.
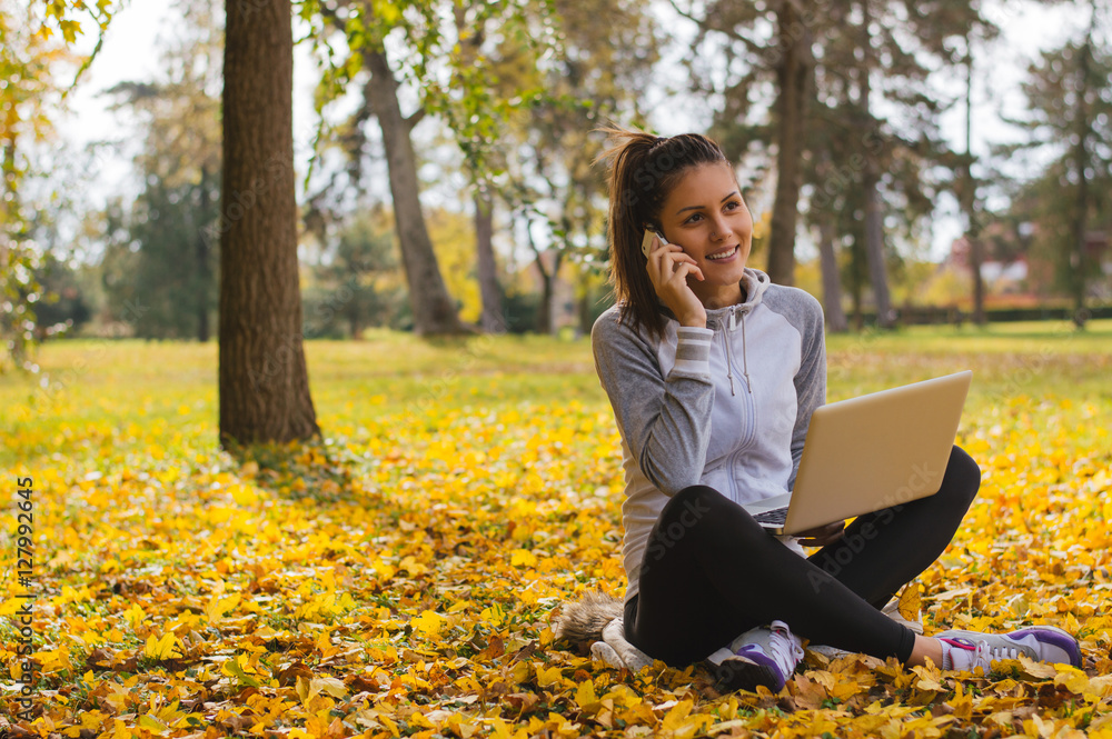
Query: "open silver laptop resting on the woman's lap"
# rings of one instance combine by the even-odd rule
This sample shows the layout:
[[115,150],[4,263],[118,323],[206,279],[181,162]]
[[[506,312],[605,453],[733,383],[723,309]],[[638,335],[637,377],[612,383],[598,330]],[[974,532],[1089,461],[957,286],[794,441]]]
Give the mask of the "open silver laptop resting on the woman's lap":
[[933,496],[973,372],[815,409],[792,492],[743,506],[771,533],[798,533]]

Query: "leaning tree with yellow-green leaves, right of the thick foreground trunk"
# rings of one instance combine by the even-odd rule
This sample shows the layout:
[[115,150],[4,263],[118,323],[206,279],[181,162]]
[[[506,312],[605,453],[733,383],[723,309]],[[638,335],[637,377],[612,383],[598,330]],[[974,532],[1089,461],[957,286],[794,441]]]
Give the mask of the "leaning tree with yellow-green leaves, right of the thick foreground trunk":
[[[523,17],[523,4],[527,3],[524,0],[470,3],[463,9],[459,3],[438,0],[383,7],[367,0],[321,4],[325,26],[317,31],[318,38],[331,49],[330,38],[340,33],[347,53],[334,59],[321,87],[320,102],[324,104],[349,88],[360,91],[356,112],[338,127],[340,144],[353,162],[349,169],[357,188],[363,187],[361,159],[370,153],[366,126],[371,119],[377,121],[414,329],[418,333],[458,333],[467,328],[458,318],[428,236],[413,130],[431,113],[448,123],[464,156],[474,162],[473,169],[483,169],[481,151],[474,146],[475,134],[490,131],[489,121],[500,101],[488,93],[490,81],[484,74],[486,68],[475,63],[479,57],[469,37],[490,19],[498,21],[500,33],[509,34]],[[456,28],[445,22],[447,18],[466,20],[467,24]],[[401,53],[394,51],[399,46]],[[400,61],[395,61],[395,53]],[[459,73],[463,69],[466,74]],[[453,82],[445,84],[445,77]],[[417,101],[404,110],[401,96],[407,90],[416,92]],[[480,210],[477,219],[483,218]]]

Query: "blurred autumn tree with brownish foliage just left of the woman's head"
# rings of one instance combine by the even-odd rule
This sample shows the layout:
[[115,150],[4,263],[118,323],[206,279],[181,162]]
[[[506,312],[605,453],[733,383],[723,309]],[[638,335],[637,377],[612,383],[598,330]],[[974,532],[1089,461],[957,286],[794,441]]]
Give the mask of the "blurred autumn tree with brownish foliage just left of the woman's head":
[[512,120],[498,159],[507,173],[499,199],[540,277],[536,329],[542,333],[556,328],[553,300],[562,269],[572,266],[575,289],[584,297],[592,272],[603,264],[606,191],[594,162],[606,142],[593,130],[643,117],[639,104],[657,60],[655,44],[645,42],[655,38],[656,23],[643,6],[557,0],[552,7],[560,46],[546,67],[508,69],[523,54],[508,44],[500,49],[504,73],[516,74],[514,83],[546,91]]

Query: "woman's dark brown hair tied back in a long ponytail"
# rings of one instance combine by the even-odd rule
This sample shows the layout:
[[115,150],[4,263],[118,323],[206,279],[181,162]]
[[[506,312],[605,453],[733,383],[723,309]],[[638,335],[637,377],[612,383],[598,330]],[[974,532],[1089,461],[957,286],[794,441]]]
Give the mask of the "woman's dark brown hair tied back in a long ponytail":
[[664,200],[688,169],[728,161],[717,143],[698,133],[665,138],[616,127],[599,130],[614,141],[598,159],[609,160],[607,238],[610,283],[620,320],[659,338],[665,318],[641,251],[645,229],[661,229]]

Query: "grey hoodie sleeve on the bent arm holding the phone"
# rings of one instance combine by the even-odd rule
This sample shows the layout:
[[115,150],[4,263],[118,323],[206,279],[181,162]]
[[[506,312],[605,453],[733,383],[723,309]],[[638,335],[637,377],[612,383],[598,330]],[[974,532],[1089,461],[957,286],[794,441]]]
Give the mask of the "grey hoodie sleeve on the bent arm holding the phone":
[[709,329],[679,328],[676,366],[662,377],[655,348],[603,313],[590,331],[595,371],[622,438],[645,477],[666,496],[698,482],[709,443]]

